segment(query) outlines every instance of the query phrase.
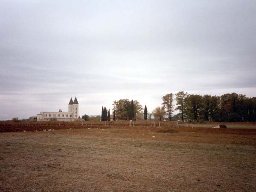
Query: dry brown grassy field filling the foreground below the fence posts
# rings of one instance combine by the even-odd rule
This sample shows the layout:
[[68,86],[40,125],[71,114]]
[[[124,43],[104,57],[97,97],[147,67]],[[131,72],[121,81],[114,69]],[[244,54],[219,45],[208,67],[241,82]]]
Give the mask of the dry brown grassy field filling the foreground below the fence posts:
[[88,128],[0,133],[0,191],[256,191],[255,129]]

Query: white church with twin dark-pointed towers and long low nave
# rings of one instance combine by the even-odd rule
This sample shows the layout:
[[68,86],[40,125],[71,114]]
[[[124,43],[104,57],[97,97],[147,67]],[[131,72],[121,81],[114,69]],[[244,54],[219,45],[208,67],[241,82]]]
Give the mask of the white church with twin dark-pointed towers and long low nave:
[[79,117],[79,104],[77,99],[72,98],[68,104],[68,112],[40,112],[37,114],[37,121],[75,121]]

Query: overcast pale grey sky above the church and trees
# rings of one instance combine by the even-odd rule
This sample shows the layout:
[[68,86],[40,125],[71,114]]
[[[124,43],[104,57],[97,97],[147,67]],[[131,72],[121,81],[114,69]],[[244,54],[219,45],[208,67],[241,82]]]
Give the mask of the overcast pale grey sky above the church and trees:
[[0,120],[149,111],[185,91],[256,96],[255,0],[1,0]]

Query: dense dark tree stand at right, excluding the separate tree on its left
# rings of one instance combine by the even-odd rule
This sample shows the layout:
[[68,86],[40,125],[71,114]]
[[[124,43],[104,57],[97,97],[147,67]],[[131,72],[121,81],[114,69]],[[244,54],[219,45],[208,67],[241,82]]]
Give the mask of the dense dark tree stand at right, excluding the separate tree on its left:
[[256,121],[256,97],[237,93],[222,96],[189,95],[183,91],[176,95],[177,107],[182,120],[192,121]]

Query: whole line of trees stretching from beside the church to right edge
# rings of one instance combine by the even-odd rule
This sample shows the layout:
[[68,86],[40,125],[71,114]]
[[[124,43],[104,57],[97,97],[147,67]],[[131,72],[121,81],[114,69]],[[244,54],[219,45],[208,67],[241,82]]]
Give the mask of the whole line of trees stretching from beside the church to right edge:
[[[176,102],[175,102],[176,101]],[[177,114],[173,115],[175,111]],[[113,102],[113,117],[110,109],[102,106],[98,120],[151,120],[157,121],[223,121],[241,122],[256,121],[256,97],[247,97],[237,93],[227,93],[221,96],[188,94],[184,91],[169,93],[162,97],[162,104],[152,112],[143,107],[137,100],[119,99]],[[100,118],[99,118],[100,117]],[[96,118],[84,115],[86,121]]]

